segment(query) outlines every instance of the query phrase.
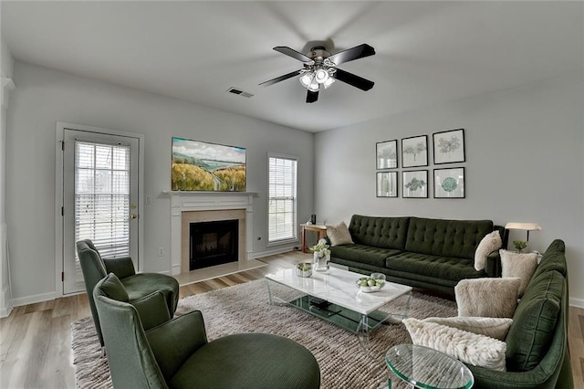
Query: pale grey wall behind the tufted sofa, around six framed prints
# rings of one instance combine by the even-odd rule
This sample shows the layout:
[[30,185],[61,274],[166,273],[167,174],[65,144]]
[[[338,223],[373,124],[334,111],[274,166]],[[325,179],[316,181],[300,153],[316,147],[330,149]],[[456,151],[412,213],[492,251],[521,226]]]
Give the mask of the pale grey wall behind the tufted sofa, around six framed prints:
[[[320,132],[316,212],[329,223],[353,214],[538,223],[543,230],[531,233],[529,247],[566,242],[571,302],[584,307],[583,93],[582,74],[571,74]],[[465,166],[465,199],[433,199],[432,179],[428,199],[403,199],[401,188],[400,198],[376,197],[375,142],[429,135],[430,166],[420,169],[432,176],[433,132],[459,128],[467,162],[453,166]],[[510,241],[519,238],[525,233]]]

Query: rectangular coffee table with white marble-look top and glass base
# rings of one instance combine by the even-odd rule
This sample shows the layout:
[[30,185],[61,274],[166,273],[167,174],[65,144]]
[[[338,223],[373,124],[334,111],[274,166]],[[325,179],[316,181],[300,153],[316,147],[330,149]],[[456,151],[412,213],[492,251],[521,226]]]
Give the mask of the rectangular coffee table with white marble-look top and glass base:
[[[281,302],[336,324],[369,340],[369,331],[390,317],[407,317],[412,288],[386,282],[373,293],[357,288],[357,280],[364,277],[342,268],[327,272],[313,271],[309,278],[296,275],[294,268],[266,275],[270,303]],[[381,308],[389,302],[408,295],[405,308],[400,312],[386,312]]]

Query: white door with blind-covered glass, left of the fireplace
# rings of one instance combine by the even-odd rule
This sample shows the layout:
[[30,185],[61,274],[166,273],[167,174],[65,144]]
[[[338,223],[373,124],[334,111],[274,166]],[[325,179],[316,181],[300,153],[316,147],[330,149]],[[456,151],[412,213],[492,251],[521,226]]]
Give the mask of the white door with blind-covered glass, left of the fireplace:
[[138,269],[140,140],[64,130],[63,294],[85,290],[76,242],[90,239],[102,258],[131,257]]

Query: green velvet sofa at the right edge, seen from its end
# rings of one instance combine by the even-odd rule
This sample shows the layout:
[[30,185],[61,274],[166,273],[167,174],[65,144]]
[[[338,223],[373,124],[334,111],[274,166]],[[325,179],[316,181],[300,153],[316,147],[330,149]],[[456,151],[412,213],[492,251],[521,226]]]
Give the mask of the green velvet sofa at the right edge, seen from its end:
[[506,372],[469,365],[474,387],[574,387],[568,353],[568,268],[564,242],[554,240],[519,300],[506,336]]

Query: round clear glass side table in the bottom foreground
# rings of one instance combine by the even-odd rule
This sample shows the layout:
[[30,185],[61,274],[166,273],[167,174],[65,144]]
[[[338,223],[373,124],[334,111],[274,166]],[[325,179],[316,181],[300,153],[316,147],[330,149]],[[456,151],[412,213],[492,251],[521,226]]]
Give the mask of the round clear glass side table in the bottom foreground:
[[398,344],[385,354],[385,362],[391,372],[416,388],[468,389],[474,384],[473,373],[464,363],[428,347]]

